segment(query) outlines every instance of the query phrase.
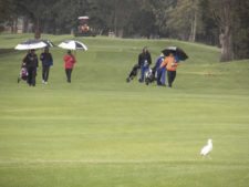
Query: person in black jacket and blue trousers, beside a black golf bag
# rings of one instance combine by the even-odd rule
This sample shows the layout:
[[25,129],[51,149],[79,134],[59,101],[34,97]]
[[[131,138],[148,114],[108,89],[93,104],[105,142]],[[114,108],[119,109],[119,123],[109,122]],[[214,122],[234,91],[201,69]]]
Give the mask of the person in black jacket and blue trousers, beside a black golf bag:
[[141,67],[141,79],[139,82],[143,83],[145,79],[145,72],[148,71],[149,65],[152,64],[152,56],[148,52],[147,46],[145,46],[142,53],[138,55],[138,65]]

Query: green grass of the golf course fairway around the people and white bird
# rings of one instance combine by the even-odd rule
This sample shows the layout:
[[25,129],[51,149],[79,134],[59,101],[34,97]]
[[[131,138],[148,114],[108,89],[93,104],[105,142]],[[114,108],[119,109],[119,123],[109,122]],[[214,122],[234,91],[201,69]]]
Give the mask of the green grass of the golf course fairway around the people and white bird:
[[[249,60],[219,63],[218,49],[174,40],[77,38],[89,51],[76,52],[72,83],[54,48],[49,84],[39,69],[29,87],[17,83],[25,52],[8,50],[29,38],[0,35],[1,187],[248,186]],[[144,45],[154,61],[168,45],[189,54],[173,89],[125,82]]]

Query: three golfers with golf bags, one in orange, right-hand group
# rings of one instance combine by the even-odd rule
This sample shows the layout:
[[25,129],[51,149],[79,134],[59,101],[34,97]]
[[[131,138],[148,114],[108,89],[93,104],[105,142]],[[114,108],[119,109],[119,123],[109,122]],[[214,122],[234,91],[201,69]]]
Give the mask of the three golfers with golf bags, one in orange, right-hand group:
[[148,84],[148,81],[156,81],[157,85],[166,86],[167,80],[167,86],[172,87],[176,77],[178,62],[179,60],[175,52],[170,52],[167,56],[162,53],[156,60],[155,65],[149,69],[149,65],[152,64],[152,56],[147,46],[145,46],[138,55],[137,64],[133,66],[133,70],[126,81],[132,81],[137,75],[138,70],[141,70],[141,76],[138,79],[141,83],[146,82],[146,84]]

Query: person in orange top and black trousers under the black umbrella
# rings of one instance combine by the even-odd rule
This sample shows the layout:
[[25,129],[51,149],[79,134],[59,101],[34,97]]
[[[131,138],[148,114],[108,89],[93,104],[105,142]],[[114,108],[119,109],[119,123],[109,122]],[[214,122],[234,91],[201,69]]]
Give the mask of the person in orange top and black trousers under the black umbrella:
[[160,64],[160,67],[166,67],[167,70],[167,80],[168,86],[172,87],[173,82],[176,79],[176,69],[177,69],[177,61],[173,53],[165,58],[164,62]]

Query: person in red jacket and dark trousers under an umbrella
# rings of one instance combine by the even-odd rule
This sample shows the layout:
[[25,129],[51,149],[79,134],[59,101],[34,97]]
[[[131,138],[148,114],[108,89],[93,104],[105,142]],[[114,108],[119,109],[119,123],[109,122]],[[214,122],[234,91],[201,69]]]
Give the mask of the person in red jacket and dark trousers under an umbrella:
[[68,83],[71,83],[71,75],[73,71],[73,66],[76,63],[74,55],[72,54],[71,50],[63,58],[64,60],[64,67],[65,67],[65,75]]

